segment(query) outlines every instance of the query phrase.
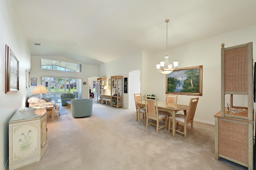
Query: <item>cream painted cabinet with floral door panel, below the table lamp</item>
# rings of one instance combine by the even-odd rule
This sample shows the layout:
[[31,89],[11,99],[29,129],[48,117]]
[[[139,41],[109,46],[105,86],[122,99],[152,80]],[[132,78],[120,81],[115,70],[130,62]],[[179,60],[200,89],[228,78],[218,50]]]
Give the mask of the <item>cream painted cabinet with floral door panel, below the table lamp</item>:
[[46,109],[30,116],[17,111],[9,121],[9,170],[39,162],[47,151]]

